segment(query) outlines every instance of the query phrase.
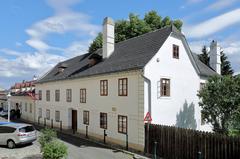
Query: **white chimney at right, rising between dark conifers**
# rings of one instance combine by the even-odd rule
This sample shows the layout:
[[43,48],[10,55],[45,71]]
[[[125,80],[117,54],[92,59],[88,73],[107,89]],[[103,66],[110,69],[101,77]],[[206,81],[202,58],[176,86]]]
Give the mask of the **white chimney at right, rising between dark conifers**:
[[210,67],[221,74],[221,48],[214,40],[210,45]]

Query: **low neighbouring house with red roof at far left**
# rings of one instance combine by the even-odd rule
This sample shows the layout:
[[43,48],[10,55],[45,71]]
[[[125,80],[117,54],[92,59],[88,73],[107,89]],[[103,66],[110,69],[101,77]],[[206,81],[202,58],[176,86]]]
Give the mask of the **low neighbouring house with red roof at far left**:
[[16,83],[11,87],[10,107],[20,109],[21,118],[30,122],[35,122],[35,80]]

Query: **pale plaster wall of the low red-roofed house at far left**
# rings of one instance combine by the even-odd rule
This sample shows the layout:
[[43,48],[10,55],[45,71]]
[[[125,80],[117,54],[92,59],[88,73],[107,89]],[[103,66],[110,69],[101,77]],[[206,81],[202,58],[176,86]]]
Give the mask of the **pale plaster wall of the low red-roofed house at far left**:
[[[24,120],[28,120],[34,122],[35,120],[35,101],[32,100],[29,96],[11,96],[11,109],[16,109],[16,103],[20,105],[21,110],[21,118]],[[25,103],[27,103],[27,111],[25,111]],[[30,104],[32,104],[32,113],[30,113]]]

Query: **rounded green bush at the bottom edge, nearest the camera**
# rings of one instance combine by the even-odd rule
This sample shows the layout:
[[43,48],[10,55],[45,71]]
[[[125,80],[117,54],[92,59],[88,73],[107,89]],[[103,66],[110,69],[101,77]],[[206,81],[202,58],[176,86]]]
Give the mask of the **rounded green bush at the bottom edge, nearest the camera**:
[[43,147],[44,159],[62,159],[67,157],[67,146],[57,140],[46,143]]

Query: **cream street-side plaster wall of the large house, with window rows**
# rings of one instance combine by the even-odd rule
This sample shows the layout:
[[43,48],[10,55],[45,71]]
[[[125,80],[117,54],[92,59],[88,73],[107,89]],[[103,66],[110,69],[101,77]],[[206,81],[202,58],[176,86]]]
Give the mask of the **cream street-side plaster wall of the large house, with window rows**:
[[[118,96],[118,79],[125,77],[128,78],[128,96]],[[100,80],[105,79],[108,80],[108,96],[100,96]],[[80,103],[81,88],[87,90],[86,103]],[[60,89],[60,102],[55,102],[56,89]],[[72,102],[66,102],[66,89],[72,89]],[[42,100],[38,100],[36,106],[37,112],[38,108],[42,108],[43,117],[46,117],[46,109],[50,109],[51,119],[55,120],[55,111],[60,110],[63,126],[71,128],[71,109],[77,110],[78,129],[85,132],[83,111],[87,110],[90,111],[89,133],[103,135],[103,129],[100,128],[100,112],[105,112],[108,113],[108,137],[125,142],[126,136],[118,133],[117,122],[118,115],[126,115],[129,143],[144,145],[143,102],[139,102],[143,100],[143,80],[139,71],[36,84],[36,92],[39,90],[42,90]],[[46,101],[46,90],[51,91],[50,102]],[[116,111],[112,110],[113,107]],[[50,121],[47,123],[50,124]],[[54,124],[59,125],[55,121]]]

